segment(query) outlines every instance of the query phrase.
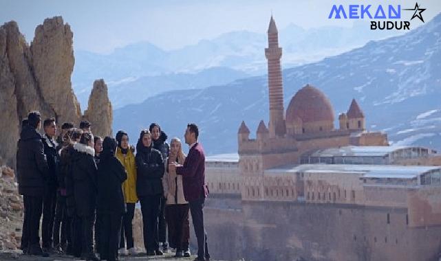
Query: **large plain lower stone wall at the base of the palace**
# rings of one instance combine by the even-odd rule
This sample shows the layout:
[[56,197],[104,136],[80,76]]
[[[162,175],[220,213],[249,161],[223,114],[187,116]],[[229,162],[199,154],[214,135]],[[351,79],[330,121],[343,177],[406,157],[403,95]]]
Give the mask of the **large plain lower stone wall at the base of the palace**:
[[[441,226],[407,225],[407,209],[242,201],[211,207],[205,224],[217,259],[438,260]],[[222,201],[222,199],[221,199]]]

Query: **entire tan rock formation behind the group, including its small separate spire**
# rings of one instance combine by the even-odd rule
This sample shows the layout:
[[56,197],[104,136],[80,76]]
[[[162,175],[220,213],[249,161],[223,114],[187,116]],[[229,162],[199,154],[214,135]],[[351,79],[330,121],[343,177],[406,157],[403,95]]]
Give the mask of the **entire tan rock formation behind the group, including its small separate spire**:
[[[40,111],[42,119],[55,117],[58,126],[82,119],[70,80],[75,61],[72,37],[61,16],[37,26],[30,46],[16,22],[0,27],[0,163],[15,168],[21,120],[30,111]],[[111,135],[111,104],[103,80],[94,83],[92,96],[87,118],[94,133]]]

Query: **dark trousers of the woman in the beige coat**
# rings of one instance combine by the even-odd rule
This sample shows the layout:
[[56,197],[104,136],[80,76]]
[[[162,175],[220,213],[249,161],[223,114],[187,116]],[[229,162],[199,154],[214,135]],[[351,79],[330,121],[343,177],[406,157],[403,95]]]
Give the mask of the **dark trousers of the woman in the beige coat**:
[[166,205],[169,245],[177,251],[188,250],[190,241],[189,204]]

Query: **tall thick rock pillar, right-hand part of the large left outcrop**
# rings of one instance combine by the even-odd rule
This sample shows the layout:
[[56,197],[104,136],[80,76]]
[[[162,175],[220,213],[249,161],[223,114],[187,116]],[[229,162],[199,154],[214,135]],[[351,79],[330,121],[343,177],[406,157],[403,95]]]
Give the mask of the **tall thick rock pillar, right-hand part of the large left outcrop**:
[[36,27],[30,46],[41,97],[53,109],[57,122],[79,122],[81,117],[70,81],[74,69],[73,36],[70,26],[57,16]]

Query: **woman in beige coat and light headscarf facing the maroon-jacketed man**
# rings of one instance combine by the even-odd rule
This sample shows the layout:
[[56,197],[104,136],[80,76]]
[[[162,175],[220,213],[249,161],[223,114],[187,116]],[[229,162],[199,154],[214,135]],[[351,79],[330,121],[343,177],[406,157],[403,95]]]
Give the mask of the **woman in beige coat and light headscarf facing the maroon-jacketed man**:
[[185,201],[182,186],[182,175],[169,172],[169,161],[184,164],[185,155],[182,152],[180,139],[171,139],[169,157],[164,161],[165,173],[162,178],[164,196],[166,198],[165,218],[169,226],[169,244],[176,249],[177,257],[190,256],[190,223],[189,203]]

